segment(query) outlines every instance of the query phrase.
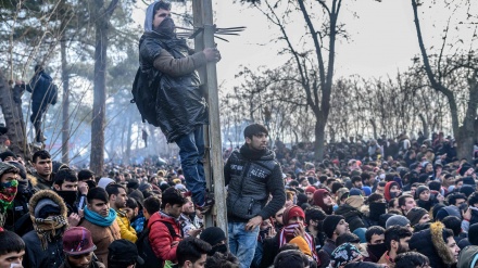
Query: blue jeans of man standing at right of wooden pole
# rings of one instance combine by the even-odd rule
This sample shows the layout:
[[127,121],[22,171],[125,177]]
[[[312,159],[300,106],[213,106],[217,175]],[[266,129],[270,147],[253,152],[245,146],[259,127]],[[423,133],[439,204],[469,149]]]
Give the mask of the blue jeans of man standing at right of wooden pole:
[[246,231],[247,222],[229,222],[229,251],[239,259],[240,268],[249,268],[254,258],[259,226],[253,231]]

